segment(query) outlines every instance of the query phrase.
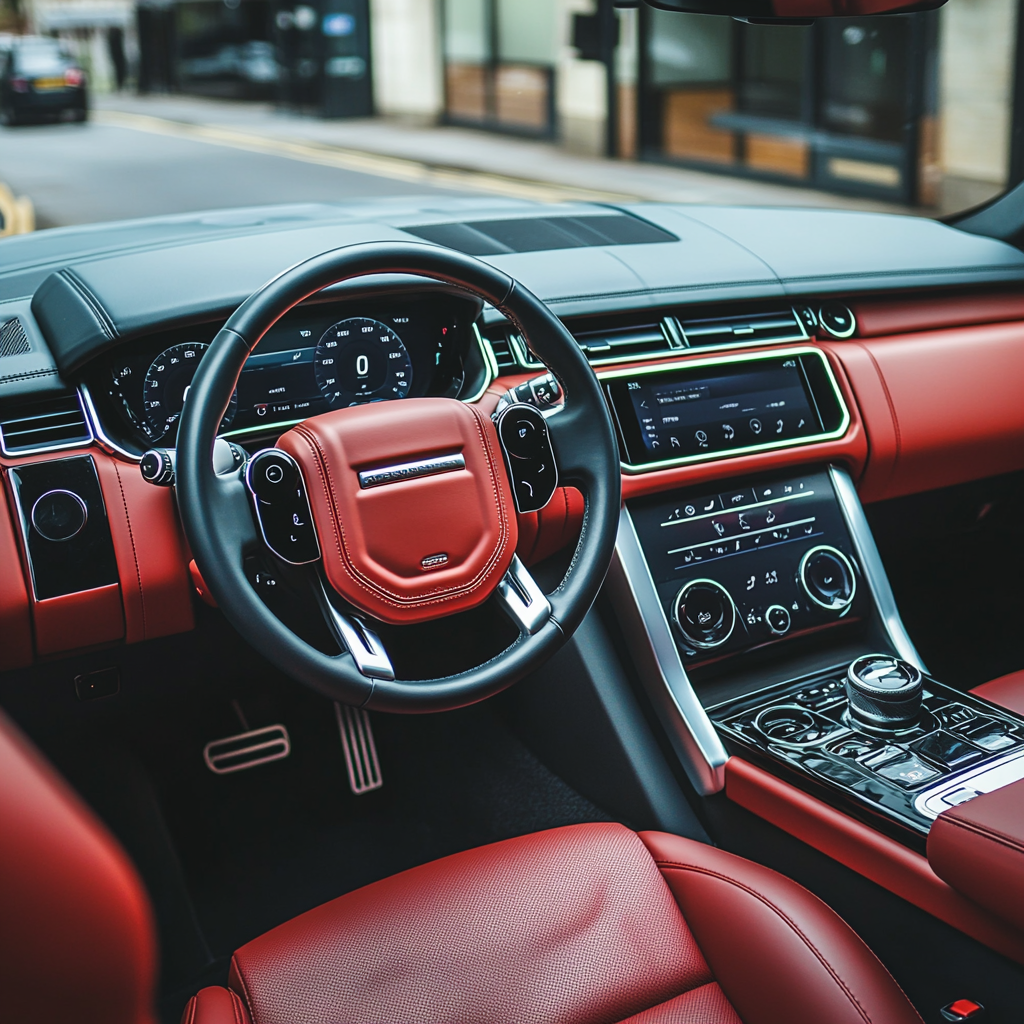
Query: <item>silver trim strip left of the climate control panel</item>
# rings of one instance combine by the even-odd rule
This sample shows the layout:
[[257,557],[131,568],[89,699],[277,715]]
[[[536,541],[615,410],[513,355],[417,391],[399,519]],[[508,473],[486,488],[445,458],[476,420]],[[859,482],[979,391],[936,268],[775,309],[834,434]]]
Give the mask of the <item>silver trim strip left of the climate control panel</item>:
[[626,508],[618,514],[608,593],[640,680],[687,777],[702,796],[720,793],[725,786],[728,754],[686,675],[640,539]]

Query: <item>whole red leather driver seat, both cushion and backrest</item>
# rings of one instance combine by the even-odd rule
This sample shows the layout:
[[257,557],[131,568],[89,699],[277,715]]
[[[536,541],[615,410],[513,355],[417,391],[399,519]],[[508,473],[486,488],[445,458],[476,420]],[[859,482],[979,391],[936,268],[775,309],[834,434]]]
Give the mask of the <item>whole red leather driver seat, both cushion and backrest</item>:
[[[0,715],[0,1017],[153,1024],[141,885]],[[616,824],[445,857],[239,949],[185,1024],[921,1024],[796,883]]]

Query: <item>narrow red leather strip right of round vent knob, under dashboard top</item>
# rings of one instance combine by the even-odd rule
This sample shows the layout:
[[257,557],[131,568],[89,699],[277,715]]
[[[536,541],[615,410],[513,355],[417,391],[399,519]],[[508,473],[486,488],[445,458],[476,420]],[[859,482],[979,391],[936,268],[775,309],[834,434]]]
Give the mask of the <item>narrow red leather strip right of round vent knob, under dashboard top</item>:
[[857,318],[858,337],[878,338],[908,331],[1022,321],[1024,295],[1014,291],[859,299],[851,302],[850,308]]

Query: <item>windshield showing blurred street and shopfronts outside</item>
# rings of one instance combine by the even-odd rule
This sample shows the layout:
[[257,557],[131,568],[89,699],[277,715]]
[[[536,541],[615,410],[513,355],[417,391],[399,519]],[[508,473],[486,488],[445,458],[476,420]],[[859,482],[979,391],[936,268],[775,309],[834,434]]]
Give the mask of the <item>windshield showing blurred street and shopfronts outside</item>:
[[1010,0],[804,27],[342,6],[0,0],[0,33],[36,33],[18,74],[62,74],[58,45],[83,69],[0,92],[0,183],[48,227],[411,195],[944,217],[1024,177]]

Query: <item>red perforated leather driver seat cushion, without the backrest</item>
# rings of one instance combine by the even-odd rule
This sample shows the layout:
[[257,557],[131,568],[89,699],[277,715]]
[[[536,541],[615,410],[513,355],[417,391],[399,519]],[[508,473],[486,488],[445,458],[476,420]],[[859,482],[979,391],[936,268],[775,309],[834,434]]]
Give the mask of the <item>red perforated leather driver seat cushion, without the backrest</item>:
[[247,943],[183,1024],[921,1024],[827,906],[617,824],[507,840]]

